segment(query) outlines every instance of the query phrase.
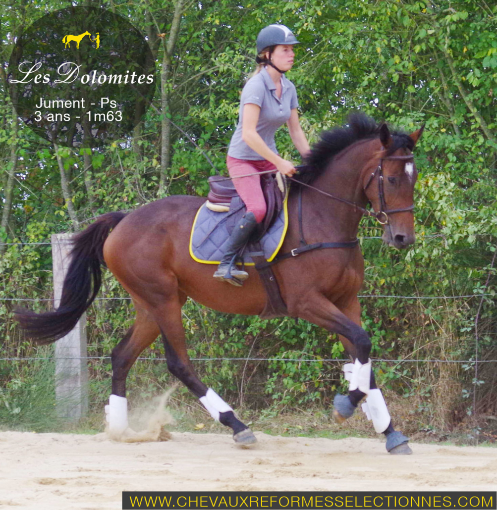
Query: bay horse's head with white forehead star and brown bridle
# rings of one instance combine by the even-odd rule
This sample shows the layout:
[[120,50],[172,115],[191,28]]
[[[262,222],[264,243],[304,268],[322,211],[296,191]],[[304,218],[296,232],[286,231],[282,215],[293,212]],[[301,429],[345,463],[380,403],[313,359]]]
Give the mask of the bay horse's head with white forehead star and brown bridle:
[[414,184],[417,179],[412,149],[424,126],[410,135],[390,134],[380,128],[381,151],[364,172],[364,191],[383,224],[383,241],[395,248],[414,243]]

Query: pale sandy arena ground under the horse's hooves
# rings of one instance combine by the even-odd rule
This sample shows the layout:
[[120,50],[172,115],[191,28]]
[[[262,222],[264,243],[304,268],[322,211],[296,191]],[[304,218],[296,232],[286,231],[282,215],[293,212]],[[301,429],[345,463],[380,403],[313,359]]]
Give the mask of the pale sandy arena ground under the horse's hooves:
[[0,508],[107,510],[121,491],[495,491],[497,448],[411,444],[393,456],[380,439],[283,438],[173,432],[118,443],[85,436],[0,432]]

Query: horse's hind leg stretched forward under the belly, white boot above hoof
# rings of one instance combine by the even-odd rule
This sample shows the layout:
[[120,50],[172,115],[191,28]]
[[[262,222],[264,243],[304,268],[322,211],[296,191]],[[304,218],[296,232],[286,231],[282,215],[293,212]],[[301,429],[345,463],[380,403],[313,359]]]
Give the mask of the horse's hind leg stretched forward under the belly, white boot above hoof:
[[251,429],[238,420],[231,407],[198,378],[186,350],[185,330],[181,320],[181,307],[186,298],[178,292],[169,293],[167,299],[154,308],[154,318],[160,327],[166,351],[167,368],[194,393],[210,415],[233,430],[233,439],[241,445],[256,442]]

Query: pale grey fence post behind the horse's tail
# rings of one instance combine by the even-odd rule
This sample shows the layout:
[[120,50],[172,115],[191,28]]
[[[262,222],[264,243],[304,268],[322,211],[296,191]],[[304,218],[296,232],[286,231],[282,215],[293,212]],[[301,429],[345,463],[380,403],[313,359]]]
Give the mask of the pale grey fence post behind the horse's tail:
[[[52,235],[54,305],[59,307],[62,284],[69,268],[73,234]],[[86,349],[86,314],[65,337],[55,343],[55,394],[57,414],[75,421],[88,410],[88,364]]]

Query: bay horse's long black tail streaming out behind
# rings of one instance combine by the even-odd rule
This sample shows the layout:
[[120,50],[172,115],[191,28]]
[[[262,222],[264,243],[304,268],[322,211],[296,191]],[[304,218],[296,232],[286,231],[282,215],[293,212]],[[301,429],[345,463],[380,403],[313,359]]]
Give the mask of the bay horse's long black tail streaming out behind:
[[103,248],[111,230],[126,216],[104,214],[72,239],[71,262],[64,278],[59,308],[37,314],[16,310],[16,320],[26,336],[38,344],[49,344],[67,335],[95,299],[102,284]]

